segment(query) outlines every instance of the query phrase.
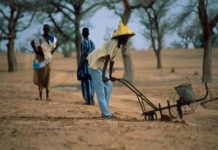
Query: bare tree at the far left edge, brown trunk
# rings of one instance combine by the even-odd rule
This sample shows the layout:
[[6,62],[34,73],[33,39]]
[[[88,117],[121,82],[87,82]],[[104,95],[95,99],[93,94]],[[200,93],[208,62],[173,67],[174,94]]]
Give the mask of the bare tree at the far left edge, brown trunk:
[[[25,9],[23,3],[2,0],[0,2],[0,30],[2,32],[0,39],[7,40],[7,57],[8,71],[17,71],[17,62],[14,52],[14,44],[17,32],[27,29],[33,21],[34,13],[28,13],[29,17],[25,17]],[[27,14],[26,14],[27,15]],[[24,21],[25,17],[25,21]]]

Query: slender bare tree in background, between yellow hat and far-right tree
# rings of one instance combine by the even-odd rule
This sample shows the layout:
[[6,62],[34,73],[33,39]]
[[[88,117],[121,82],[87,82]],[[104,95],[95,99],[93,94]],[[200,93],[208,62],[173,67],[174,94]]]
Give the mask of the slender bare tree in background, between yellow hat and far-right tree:
[[157,58],[157,69],[162,68],[161,50],[164,36],[172,28],[167,17],[167,10],[173,1],[157,1],[150,8],[143,7],[140,11],[140,22],[144,26],[144,37],[151,40],[151,46]]

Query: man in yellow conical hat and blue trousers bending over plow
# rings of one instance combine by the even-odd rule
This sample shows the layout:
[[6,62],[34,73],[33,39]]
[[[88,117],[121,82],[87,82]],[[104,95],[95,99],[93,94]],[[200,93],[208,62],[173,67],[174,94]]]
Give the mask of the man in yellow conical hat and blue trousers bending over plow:
[[[116,81],[116,78],[112,77],[114,58],[120,47],[126,44],[129,37],[133,35],[135,34],[131,29],[120,22],[119,27],[113,33],[111,40],[106,42],[101,48],[91,52],[87,57],[89,72],[94,83],[94,89],[103,118],[114,118],[114,115],[109,111],[109,100],[112,90],[111,81]],[[109,76],[106,73],[108,64],[110,64]]]

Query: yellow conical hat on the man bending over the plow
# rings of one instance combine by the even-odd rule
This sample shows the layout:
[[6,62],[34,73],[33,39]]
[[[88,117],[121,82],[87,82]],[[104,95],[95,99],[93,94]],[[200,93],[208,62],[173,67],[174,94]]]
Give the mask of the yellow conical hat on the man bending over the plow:
[[128,26],[125,26],[122,21],[120,21],[118,29],[114,31],[112,38],[116,38],[122,35],[131,37],[134,36],[135,33]]

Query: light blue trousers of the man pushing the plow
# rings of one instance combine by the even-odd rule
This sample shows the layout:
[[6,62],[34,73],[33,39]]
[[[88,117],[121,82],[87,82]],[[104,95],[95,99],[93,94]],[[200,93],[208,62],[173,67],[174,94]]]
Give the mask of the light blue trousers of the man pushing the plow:
[[[101,69],[92,69],[89,67],[89,72],[91,74],[94,89],[98,98],[98,104],[102,113],[102,117],[111,116],[112,113],[109,110],[109,101],[112,90],[111,81],[103,82],[102,81],[102,70]],[[108,74],[107,74],[108,76]]]

